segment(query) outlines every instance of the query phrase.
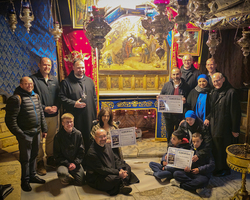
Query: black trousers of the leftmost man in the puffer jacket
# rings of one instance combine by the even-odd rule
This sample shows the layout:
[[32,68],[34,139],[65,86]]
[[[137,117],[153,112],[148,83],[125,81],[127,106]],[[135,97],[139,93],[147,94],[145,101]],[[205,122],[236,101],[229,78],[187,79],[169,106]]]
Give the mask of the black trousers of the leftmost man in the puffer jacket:
[[19,162],[21,164],[21,181],[29,181],[36,175],[35,165],[38,155],[40,133],[34,137],[20,138],[16,137],[19,143]]

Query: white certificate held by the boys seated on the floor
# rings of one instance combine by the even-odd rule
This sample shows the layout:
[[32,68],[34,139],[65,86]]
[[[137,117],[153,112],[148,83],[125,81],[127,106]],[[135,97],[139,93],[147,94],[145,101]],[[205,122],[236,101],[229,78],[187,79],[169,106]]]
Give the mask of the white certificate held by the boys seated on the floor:
[[191,169],[193,150],[169,147],[167,154],[167,166],[179,169],[189,167]]

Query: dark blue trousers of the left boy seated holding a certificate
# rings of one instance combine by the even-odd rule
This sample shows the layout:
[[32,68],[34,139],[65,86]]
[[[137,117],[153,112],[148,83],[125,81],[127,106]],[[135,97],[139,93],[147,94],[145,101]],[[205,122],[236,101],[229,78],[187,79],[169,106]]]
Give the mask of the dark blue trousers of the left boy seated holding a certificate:
[[167,178],[170,180],[173,178],[173,173],[178,170],[176,168],[167,167],[167,169],[162,170],[162,165],[156,162],[150,162],[149,167],[154,171],[154,177],[158,179]]

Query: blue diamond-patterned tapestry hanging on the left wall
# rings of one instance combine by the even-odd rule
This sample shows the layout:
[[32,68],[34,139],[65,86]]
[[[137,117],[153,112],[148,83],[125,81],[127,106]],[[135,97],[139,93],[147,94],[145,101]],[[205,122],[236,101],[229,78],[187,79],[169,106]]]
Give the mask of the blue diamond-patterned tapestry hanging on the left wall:
[[[18,24],[14,33],[5,20],[7,5],[0,8],[0,88],[12,94],[23,76],[37,72],[41,57],[52,61],[51,73],[57,76],[56,44],[49,32],[52,24],[50,1],[31,2],[34,21],[27,33],[19,18],[20,2],[14,1]],[[2,6],[3,5],[3,6]]]

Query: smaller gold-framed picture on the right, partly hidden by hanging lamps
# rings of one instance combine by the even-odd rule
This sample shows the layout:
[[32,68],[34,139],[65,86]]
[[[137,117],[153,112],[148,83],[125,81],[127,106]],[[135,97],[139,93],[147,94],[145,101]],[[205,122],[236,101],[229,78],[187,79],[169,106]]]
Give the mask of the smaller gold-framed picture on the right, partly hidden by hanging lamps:
[[184,33],[183,41],[185,41],[188,38],[188,32],[194,32],[194,39],[196,40],[196,44],[193,47],[192,52],[189,52],[185,46],[183,48],[179,46],[178,48],[178,55],[186,55],[190,54],[192,56],[200,56],[201,53],[201,40],[202,40],[202,30],[199,29],[187,29]]

